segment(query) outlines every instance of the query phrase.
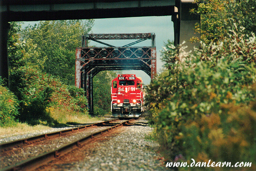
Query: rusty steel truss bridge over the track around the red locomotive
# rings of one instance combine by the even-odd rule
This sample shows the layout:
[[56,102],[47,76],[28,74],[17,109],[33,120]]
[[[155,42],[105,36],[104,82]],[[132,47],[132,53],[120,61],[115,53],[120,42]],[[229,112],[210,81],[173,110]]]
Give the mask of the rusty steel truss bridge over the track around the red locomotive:
[[[115,47],[99,40],[138,39],[122,47]],[[131,47],[151,39],[151,46]],[[88,40],[108,47],[88,47]],[[106,70],[142,70],[151,79],[156,75],[156,49],[154,33],[136,34],[87,34],[82,35],[81,48],[76,48],[75,85],[84,88],[88,98],[89,113],[93,114],[93,77]]]

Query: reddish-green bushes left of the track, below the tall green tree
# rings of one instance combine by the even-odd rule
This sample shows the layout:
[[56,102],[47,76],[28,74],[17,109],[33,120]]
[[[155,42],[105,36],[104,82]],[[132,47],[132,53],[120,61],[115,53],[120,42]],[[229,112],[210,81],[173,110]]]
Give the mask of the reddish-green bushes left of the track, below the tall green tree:
[[46,110],[49,107],[87,112],[84,90],[62,84],[50,74],[41,73],[34,68],[22,67],[15,72],[19,73],[18,80],[15,81],[14,77],[11,83],[20,97],[21,121],[31,121],[34,124],[38,123],[37,120],[54,122],[51,112]]

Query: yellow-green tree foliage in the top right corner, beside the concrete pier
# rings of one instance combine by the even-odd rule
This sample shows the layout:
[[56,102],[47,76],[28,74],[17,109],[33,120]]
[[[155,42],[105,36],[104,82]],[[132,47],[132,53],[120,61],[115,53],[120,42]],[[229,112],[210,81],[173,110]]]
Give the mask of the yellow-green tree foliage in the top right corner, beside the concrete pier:
[[191,13],[200,14],[200,23],[195,25],[195,31],[200,38],[192,41],[210,42],[223,41],[230,29],[235,29],[233,23],[243,26],[245,34],[256,33],[256,1],[254,0],[195,0],[198,8]]

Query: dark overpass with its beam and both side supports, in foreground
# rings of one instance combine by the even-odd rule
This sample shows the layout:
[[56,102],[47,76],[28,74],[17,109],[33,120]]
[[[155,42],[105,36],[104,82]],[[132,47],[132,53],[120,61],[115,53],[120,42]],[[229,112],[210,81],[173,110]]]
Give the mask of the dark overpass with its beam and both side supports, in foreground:
[[[194,35],[199,16],[193,0],[0,0],[0,76],[8,78],[7,33],[10,21],[172,16],[175,45]],[[150,25],[150,23],[148,23]],[[189,49],[193,45],[187,43]],[[74,49],[75,50],[75,49]]]

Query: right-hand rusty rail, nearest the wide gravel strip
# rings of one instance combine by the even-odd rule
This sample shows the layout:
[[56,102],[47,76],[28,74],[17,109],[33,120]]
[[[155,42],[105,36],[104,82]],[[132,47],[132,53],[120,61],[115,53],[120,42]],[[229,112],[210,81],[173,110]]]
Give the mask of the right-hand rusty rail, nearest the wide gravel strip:
[[32,171],[35,168],[38,168],[38,167],[44,165],[44,163],[46,163],[47,161],[51,161],[55,158],[60,157],[61,153],[64,154],[64,153],[70,152],[71,150],[74,150],[76,148],[80,148],[81,146],[85,145],[88,140],[91,140],[96,136],[101,136],[104,132],[109,132],[111,129],[117,128],[118,126],[125,125],[133,119],[119,123],[110,128],[95,132],[89,136],[82,138],[82,139],[76,140],[76,141],[71,142],[67,145],[64,145],[60,148],[54,149],[51,152],[46,152],[46,153],[43,153],[36,157],[29,158],[25,161],[21,161],[21,162],[15,164],[15,165],[9,166],[7,168],[3,168],[0,171]]

